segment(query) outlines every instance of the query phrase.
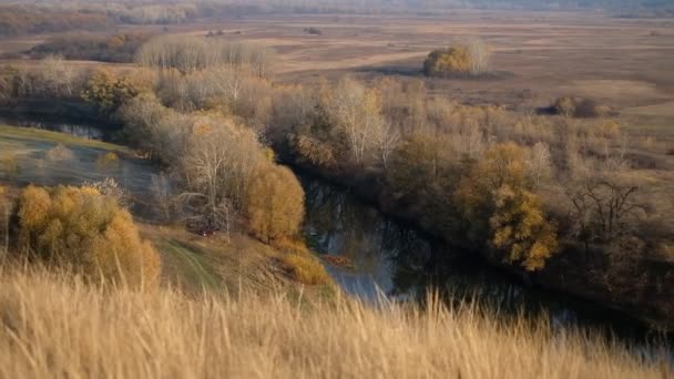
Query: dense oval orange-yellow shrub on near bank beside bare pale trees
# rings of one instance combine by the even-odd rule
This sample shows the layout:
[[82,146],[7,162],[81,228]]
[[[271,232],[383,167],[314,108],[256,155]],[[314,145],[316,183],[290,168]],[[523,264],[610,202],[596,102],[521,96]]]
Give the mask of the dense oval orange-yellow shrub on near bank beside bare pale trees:
[[267,243],[292,237],[304,219],[304,190],[286,167],[263,164],[253,174],[246,203],[251,231]]

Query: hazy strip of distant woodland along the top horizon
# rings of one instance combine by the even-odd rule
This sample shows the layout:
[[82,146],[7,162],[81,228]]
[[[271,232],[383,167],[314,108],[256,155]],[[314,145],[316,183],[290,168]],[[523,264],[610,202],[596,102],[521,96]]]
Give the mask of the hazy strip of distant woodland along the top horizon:
[[0,35],[104,30],[116,24],[178,24],[200,18],[236,18],[270,13],[419,13],[458,9],[605,10],[621,17],[671,17],[668,0],[213,0],[172,3],[159,0],[136,2],[27,1],[0,7]]

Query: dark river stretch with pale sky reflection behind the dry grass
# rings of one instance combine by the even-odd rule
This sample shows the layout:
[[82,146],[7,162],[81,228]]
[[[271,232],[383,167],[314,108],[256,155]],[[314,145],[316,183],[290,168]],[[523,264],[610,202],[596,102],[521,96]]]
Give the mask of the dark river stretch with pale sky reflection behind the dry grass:
[[450,304],[479,301],[502,317],[544,317],[555,328],[589,326],[642,347],[646,340],[661,338],[619,313],[523,286],[479,257],[382,216],[345,188],[300,178],[306,192],[307,240],[320,254],[354,263],[353,268],[327,265],[334,279],[354,296],[375,300],[384,294],[422,301],[432,289]]

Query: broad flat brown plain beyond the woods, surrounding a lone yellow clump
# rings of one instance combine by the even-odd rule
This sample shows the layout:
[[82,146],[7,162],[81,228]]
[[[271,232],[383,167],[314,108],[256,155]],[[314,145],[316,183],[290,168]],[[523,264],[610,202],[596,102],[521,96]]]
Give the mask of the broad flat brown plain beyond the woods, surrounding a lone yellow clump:
[[[308,27],[318,28],[323,35],[304,32]],[[133,28],[162,32],[160,27]],[[436,79],[431,88],[462,102],[522,110],[547,105],[561,95],[589,96],[630,114],[658,110],[655,113],[665,119],[660,122],[674,120],[672,106],[666,105],[674,101],[672,20],[504,11],[453,11],[438,17],[284,16],[208,20],[170,27],[166,33],[200,35],[210,30],[222,30],[222,38],[228,40],[274,48],[276,80],[282,82],[345,72],[421,78],[429,50],[479,37],[493,49],[493,78]],[[47,38],[6,39],[0,44],[2,52],[21,51]]]

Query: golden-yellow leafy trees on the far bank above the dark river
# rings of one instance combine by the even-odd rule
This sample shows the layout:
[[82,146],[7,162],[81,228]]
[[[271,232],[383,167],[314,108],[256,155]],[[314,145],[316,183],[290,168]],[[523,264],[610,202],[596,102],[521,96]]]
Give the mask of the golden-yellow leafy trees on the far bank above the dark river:
[[473,240],[487,240],[503,262],[537,270],[555,253],[556,231],[531,191],[528,158],[514,143],[494,145],[461,180],[455,201]]

